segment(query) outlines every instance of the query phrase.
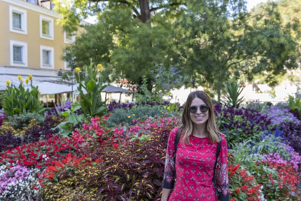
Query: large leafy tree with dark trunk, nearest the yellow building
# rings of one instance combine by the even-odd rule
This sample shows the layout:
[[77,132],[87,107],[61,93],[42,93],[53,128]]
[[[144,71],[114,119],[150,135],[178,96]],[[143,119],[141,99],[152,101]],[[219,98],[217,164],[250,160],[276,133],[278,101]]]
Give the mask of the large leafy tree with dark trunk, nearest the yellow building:
[[[69,3],[68,3],[69,2]],[[170,67],[173,55],[172,19],[185,1],[55,1],[65,30],[74,31],[80,19],[97,15],[99,22],[87,26],[75,44],[65,50],[64,60],[73,67],[95,63],[106,66],[104,80],[126,78],[140,84],[142,75],[154,81],[152,71]],[[151,86],[149,86],[150,88]]]

